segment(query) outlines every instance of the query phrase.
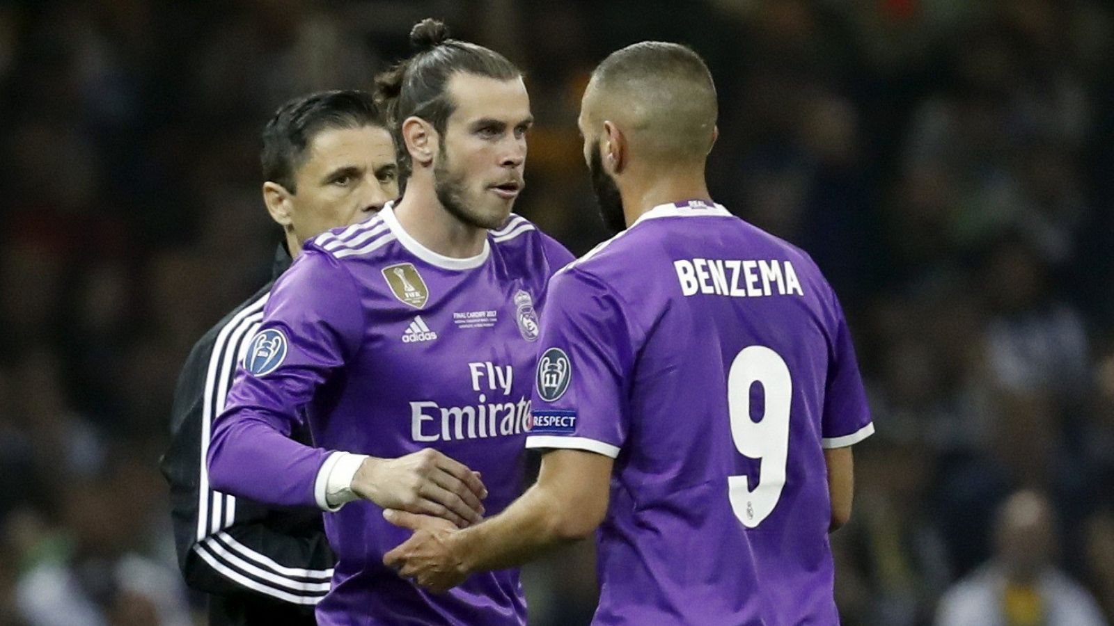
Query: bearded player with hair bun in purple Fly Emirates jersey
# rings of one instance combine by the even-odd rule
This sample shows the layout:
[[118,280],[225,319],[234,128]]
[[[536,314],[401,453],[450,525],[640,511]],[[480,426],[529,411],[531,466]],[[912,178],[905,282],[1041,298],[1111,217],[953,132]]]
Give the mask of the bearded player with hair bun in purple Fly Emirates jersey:
[[[314,238],[278,280],[216,423],[209,476],[233,493],[333,511],[323,625],[521,625],[516,570],[434,595],[382,564],[404,535],[383,507],[444,512],[428,498],[463,478],[442,473],[400,499],[377,480],[385,459],[431,447],[466,462],[489,512],[521,492],[537,311],[571,261],[510,214],[532,119],[519,70],[433,20],[411,40],[419,51],[380,80],[410,163],[402,199]],[[287,437],[302,424],[312,447]]]

